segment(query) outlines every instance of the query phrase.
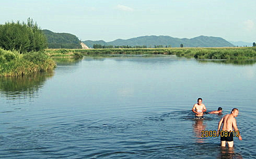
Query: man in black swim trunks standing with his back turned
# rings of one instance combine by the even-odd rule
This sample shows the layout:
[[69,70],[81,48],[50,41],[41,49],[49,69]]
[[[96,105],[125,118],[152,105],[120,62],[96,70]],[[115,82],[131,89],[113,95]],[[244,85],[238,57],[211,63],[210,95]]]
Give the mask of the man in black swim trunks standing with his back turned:
[[[233,108],[230,114],[225,115],[222,119],[219,120],[218,132],[219,132],[219,135],[220,135],[220,143],[223,147],[226,146],[226,142],[228,143],[229,148],[233,147],[233,144],[234,144],[233,136],[234,136],[234,134],[233,134],[232,131],[233,131],[233,128],[234,128],[235,131],[238,131],[237,121],[235,119],[235,117],[238,116],[238,113],[239,113],[238,109]],[[226,131],[228,133],[221,133],[219,131],[222,124],[223,124],[223,127],[222,127],[223,132]],[[239,140],[242,140],[242,137],[241,137],[240,133],[239,133],[238,138],[239,138]]]

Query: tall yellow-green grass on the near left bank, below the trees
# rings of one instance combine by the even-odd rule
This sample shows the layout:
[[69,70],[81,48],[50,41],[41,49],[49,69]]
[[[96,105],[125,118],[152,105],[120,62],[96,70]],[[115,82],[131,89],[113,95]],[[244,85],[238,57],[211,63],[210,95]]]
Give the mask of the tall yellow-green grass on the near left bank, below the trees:
[[55,66],[54,60],[44,52],[19,54],[0,48],[0,77],[27,76],[53,70]]

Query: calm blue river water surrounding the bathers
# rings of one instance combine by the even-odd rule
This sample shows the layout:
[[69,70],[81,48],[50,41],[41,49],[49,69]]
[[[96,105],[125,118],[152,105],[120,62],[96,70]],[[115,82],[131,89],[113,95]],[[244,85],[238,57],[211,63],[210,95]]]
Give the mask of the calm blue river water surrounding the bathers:
[[[0,78],[1,158],[254,158],[256,64],[174,56],[84,57],[54,72]],[[202,97],[207,111],[194,119]],[[242,141],[220,148],[239,109]]]

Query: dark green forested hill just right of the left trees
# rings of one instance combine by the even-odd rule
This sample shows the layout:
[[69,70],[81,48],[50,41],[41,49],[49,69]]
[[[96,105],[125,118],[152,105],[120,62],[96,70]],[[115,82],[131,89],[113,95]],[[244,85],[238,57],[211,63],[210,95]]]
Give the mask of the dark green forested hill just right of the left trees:
[[81,41],[76,35],[69,33],[55,33],[50,30],[42,30],[48,42],[48,48],[82,48]]

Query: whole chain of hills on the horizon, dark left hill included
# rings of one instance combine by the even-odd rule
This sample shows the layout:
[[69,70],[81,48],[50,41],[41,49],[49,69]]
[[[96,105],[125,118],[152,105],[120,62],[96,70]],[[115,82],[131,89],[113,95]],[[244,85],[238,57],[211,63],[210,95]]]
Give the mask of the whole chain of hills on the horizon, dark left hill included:
[[[55,33],[50,30],[42,30],[48,40],[49,48],[82,48],[81,41],[76,35],[70,33]],[[234,46],[252,46],[252,43],[247,42],[234,42],[226,41],[223,38],[213,37],[213,36],[198,36],[192,39],[187,38],[173,38],[171,36],[139,36],[137,38],[131,38],[127,40],[117,39],[110,42],[105,42],[103,40],[99,41],[83,41],[88,47],[93,47],[94,44],[100,44],[104,46],[143,46],[155,47],[155,45],[180,47],[234,47]]]

